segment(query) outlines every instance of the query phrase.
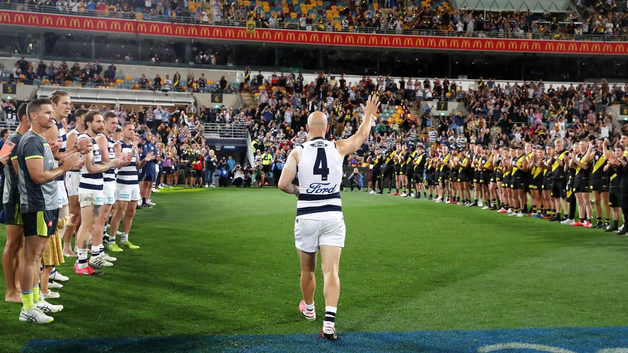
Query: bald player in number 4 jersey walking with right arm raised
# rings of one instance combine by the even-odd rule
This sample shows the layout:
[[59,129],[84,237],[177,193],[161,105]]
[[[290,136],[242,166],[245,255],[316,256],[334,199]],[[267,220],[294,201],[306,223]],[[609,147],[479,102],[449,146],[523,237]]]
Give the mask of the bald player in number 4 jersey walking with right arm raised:
[[[288,155],[279,188],[298,197],[295,219],[295,246],[301,261],[301,293],[303,300],[299,311],[307,320],[315,320],[314,272],[317,252],[320,249],[323,270],[323,294],[325,295],[325,319],[323,335],[337,339],[335,317],[340,295],[338,264],[340,251],[345,244],[345,223],[340,202],[342,161],[346,155],[355,153],[371,131],[371,119],[379,107],[379,98],[369,96],[366,107],[360,104],[364,120],[356,134],[336,142],[324,139],[329,131],[327,117],[323,112],[313,112],[306,126],[309,140],[293,149]],[[296,170],[299,170],[299,185],[293,185]]]

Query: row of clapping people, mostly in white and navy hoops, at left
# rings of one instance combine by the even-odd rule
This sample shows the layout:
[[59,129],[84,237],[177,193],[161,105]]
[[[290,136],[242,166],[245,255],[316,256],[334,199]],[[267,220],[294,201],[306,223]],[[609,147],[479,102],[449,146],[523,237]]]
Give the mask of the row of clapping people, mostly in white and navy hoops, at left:
[[[40,271],[58,220],[71,220],[62,230],[63,255],[77,257],[75,273],[102,274],[98,268],[117,260],[105,253],[103,240],[112,252],[139,249],[129,241],[129,232],[139,200],[147,205],[155,181],[156,147],[140,141],[146,136],[138,136],[132,123],[120,127],[113,112],[78,109],[76,127],[66,133],[62,119],[67,119],[70,108],[70,96],[60,90],[48,99],[22,104],[18,129],[8,138],[15,146],[10,163],[4,163],[5,300],[23,304],[19,320],[24,322],[48,323],[53,321],[48,314],[63,309],[46,301],[60,297],[47,284],[68,277],[53,266],[44,267],[48,273]],[[73,234],[77,254],[71,249]]]

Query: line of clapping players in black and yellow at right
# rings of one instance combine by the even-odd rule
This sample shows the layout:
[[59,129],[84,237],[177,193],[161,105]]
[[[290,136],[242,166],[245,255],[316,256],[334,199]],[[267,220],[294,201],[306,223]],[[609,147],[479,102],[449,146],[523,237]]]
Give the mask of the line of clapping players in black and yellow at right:
[[421,144],[411,150],[398,143],[391,151],[375,149],[369,156],[370,193],[382,194],[387,180],[389,194],[393,185],[396,187],[392,195],[421,198],[423,193],[435,202],[618,231],[620,176],[627,162],[627,146],[628,136],[622,136],[612,149],[607,139],[583,139],[570,149],[565,149],[562,139],[545,147],[470,144],[468,148],[440,146],[428,151]]

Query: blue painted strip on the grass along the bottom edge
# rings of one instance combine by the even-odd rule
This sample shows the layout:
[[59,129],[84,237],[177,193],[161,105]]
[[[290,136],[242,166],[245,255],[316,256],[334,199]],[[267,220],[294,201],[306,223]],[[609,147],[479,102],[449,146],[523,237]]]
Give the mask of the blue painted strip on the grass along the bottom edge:
[[628,327],[31,340],[24,353],[628,353]]

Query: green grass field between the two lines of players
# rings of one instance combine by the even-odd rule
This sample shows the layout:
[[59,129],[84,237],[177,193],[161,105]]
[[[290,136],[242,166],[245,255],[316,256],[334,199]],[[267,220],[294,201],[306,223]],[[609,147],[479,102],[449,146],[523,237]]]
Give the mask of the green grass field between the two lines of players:
[[[625,324],[628,238],[426,200],[342,193],[339,332]],[[0,302],[0,352],[33,339],[317,334],[293,240],[296,198],[274,188],[181,188],[138,211],[137,251],[78,277],[50,325]],[[4,229],[1,230],[4,234]],[[6,237],[0,245],[4,246]],[[322,274],[315,302],[323,309]],[[4,283],[0,284],[4,294]]]

